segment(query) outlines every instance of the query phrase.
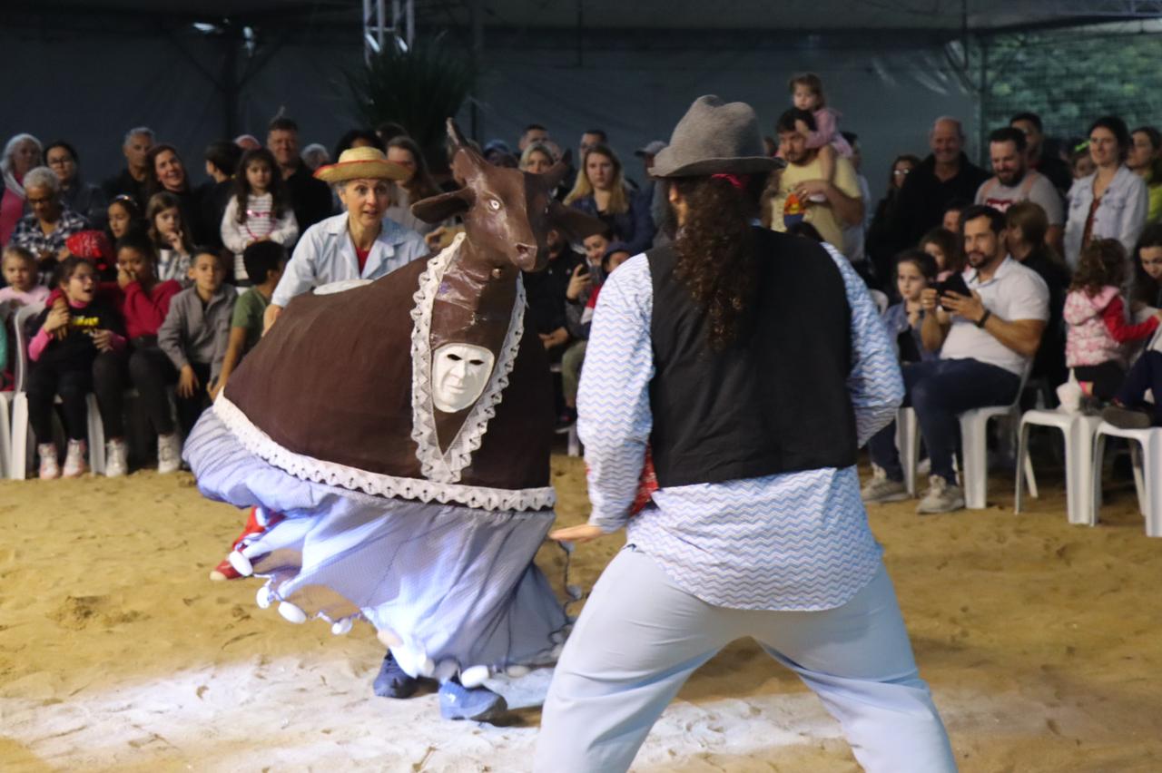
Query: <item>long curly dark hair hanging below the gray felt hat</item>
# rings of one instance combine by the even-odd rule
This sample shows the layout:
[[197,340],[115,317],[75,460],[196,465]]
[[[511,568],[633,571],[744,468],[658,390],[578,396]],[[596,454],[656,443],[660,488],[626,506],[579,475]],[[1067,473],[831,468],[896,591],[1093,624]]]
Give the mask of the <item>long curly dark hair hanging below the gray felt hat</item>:
[[677,231],[674,275],[687,286],[710,326],[711,349],[723,351],[748,333],[751,303],[758,286],[754,217],[766,179],[744,179],[740,190],[725,178],[682,178],[673,185],[687,202]]

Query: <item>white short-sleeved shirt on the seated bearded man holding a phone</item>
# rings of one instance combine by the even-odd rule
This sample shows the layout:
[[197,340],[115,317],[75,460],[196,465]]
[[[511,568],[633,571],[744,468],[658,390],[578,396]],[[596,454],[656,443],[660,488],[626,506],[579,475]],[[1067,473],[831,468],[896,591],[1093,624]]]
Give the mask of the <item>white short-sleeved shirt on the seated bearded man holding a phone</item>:
[[[981,295],[985,309],[1005,322],[1049,319],[1049,288],[1045,280],[1011,257],[1005,257],[988,282],[981,282],[974,268],[964,270],[964,282]],[[952,330],[940,348],[940,359],[977,360],[1018,376],[1025,373],[1028,363],[1028,357],[1017,354],[989,331],[956,315],[953,315]]]

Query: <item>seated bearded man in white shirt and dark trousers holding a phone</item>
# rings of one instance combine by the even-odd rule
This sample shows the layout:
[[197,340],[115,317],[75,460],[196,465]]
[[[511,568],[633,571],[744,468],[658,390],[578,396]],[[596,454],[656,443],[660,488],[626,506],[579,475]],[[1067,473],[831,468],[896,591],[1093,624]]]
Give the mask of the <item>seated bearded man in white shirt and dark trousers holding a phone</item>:
[[[960,510],[964,497],[956,485],[953,457],[957,416],[1017,398],[1021,375],[1037,353],[1049,318],[1049,291],[1030,268],[1007,257],[1004,216],[989,207],[963,214],[966,272],[971,295],[935,288],[920,296],[925,348],[940,352],[935,361],[903,369],[905,400],[916,409],[920,434],[932,461],[930,487],[917,512]],[[903,471],[895,446],[895,422],[881,431],[873,462],[880,471],[863,489],[866,501],[897,498]]]

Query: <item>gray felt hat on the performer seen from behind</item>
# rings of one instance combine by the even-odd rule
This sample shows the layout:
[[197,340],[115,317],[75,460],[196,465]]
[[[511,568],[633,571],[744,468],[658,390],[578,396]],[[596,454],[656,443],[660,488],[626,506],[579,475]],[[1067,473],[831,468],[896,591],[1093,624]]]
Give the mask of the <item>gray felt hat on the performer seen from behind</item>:
[[746,102],[700,96],[674,127],[669,145],[654,157],[655,178],[762,174],[784,164],[762,146],[759,117]]

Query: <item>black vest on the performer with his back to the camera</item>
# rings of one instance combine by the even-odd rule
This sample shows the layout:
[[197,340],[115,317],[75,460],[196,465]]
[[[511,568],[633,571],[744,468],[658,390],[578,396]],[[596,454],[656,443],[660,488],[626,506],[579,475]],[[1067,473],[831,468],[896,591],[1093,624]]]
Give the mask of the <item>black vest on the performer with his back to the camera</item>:
[[855,463],[851,308],[831,255],[754,229],[758,291],[748,334],[723,352],[674,276],[669,246],[646,253],[653,281],[651,443],[661,486]]

